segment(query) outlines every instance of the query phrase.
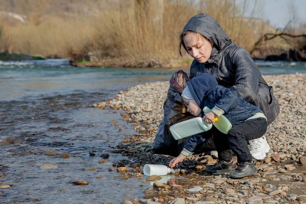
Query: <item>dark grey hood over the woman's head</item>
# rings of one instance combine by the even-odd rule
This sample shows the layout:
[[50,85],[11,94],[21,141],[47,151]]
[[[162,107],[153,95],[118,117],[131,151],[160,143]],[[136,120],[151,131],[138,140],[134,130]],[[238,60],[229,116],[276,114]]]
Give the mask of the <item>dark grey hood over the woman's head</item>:
[[230,41],[218,21],[205,13],[193,16],[185,25],[183,32],[185,31],[194,31],[202,34],[214,43],[214,48],[217,48],[217,50],[221,50]]

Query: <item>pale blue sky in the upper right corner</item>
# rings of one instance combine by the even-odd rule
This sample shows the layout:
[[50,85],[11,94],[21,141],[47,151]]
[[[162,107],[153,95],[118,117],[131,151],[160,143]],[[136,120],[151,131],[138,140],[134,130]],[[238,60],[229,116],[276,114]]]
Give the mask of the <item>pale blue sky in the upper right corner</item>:
[[[251,16],[252,3],[256,0],[246,0],[248,3],[248,12],[246,16]],[[257,11],[255,17],[263,18],[274,28],[285,28],[290,19],[295,14],[295,19],[291,25],[298,24],[301,21],[306,22],[306,0],[257,0],[262,12]],[[292,9],[294,8],[294,9]],[[295,12],[292,12],[295,10]],[[294,13],[294,14],[293,14]]]

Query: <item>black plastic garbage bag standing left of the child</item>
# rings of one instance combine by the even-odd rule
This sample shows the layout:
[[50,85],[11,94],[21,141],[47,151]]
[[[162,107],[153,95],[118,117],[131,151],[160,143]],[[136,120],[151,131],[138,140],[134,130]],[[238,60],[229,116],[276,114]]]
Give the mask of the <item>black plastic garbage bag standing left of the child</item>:
[[[169,127],[177,122],[194,118],[183,105],[181,96],[189,80],[188,74],[183,70],[175,72],[170,78],[170,86],[163,106],[164,116],[151,147],[151,152],[153,154],[177,157],[190,138],[186,137],[175,140],[169,130]],[[199,149],[201,149],[202,152],[215,150],[213,138],[209,137]]]

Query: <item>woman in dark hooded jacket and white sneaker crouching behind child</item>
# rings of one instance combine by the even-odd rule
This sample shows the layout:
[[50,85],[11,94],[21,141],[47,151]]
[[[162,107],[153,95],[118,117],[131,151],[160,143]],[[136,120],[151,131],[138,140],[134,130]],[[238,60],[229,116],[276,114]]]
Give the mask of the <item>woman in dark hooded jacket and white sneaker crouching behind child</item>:
[[[236,90],[248,103],[260,108],[268,125],[275,120],[279,105],[272,87],[268,86],[247,50],[232,42],[213,17],[203,13],[193,16],[180,35],[181,56],[182,47],[194,58],[190,65],[191,79],[200,73],[209,73],[219,85]],[[198,145],[194,142],[191,138],[185,144],[185,155],[190,153],[188,147]],[[264,159],[270,149],[264,136],[250,140],[249,144],[252,156],[259,160]]]

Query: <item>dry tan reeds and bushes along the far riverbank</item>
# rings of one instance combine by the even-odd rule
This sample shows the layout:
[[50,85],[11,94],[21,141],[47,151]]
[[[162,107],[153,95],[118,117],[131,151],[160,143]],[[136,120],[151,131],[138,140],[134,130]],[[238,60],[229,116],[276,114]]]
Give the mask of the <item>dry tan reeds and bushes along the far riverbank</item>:
[[[259,14],[263,2],[256,2],[251,11]],[[191,60],[187,55],[177,60],[178,37],[185,23],[200,12],[216,18],[228,36],[249,51],[266,33],[277,33],[262,19],[244,17],[248,3],[246,0],[2,1],[0,52],[69,58],[80,66],[188,66]],[[297,32],[292,28],[290,31]],[[261,42],[252,55],[262,58],[271,50],[279,54],[294,46],[293,43],[283,36],[267,49]]]

